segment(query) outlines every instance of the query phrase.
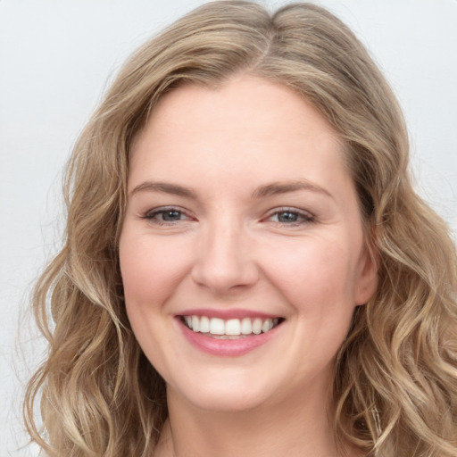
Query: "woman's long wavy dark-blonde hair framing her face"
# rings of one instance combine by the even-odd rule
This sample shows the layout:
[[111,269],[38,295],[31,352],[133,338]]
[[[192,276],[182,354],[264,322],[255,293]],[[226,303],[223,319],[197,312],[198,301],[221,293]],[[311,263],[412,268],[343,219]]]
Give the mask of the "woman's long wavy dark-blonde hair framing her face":
[[118,262],[129,145],[167,91],[239,72],[291,87],[337,130],[377,252],[377,293],[357,308],[337,359],[337,440],[379,457],[455,457],[455,247],[411,187],[395,96],[328,11],[291,4],[270,14],[237,0],[205,4],[142,46],[75,145],[64,246],[34,295],[49,351],[24,403],[30,435],[50,456],[154,452],[165,386],[130,329]]

